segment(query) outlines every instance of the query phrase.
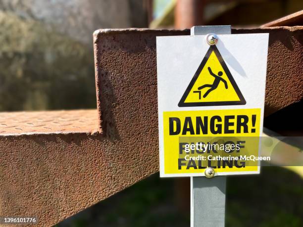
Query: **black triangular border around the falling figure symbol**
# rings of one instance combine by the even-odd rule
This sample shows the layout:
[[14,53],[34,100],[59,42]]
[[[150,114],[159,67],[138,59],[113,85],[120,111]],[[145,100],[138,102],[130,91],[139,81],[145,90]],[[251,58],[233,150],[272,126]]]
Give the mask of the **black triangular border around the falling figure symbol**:
[[[210,54],[212,53],[212,51],[214,51],[215,55],[217,56],[222,68],[224,69],[230,83],[232,84],[232,86],[234,87],[238,97],[240,98],[239,101],[218,101],[218,102],[190,102],[190,103],[185,103],[185,99],[188,96],[189,92],[191,91],[192,87],[194,86],[194,84],[196,83],[204,65],[206,64]],[[191,107],[191,106],[223,106],[223,105],[245,105],[246,104],[246,100],[242,94],[242,92],[240,91],[238,85],[236,84],[233,76],[231,75],[227,65],[225,64],[218,48],[215,45],[211,45],[204,58],[202,59],[193,79],[191,80],[191,82],[189,83],[187,89],[185,90],[182,98],[180,99],[178,106],[179,107]]]

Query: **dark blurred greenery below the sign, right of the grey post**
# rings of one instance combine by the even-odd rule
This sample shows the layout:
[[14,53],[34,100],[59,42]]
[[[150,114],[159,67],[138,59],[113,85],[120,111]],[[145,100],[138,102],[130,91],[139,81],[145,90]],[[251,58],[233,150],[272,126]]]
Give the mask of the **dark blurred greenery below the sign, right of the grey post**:
[[229,177],[227,227],[302,227],[303,180],[279,167],[262,167],[260,175]]

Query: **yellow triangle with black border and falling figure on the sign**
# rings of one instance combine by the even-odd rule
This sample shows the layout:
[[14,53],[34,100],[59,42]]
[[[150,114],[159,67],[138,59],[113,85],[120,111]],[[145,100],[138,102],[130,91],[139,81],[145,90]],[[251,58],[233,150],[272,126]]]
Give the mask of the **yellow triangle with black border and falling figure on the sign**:
[[178,106],[245,105],[246,100],[218,48],[211,45]]

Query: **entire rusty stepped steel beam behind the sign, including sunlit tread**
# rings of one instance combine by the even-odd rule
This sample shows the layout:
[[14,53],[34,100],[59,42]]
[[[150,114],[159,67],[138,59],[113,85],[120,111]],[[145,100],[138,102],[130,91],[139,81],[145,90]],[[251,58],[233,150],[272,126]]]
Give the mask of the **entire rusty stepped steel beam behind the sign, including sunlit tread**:
[[[270,33],[266,115],[303,97],[302,30],[232,30]],[[95,111],[64,118],[57,111],[0,114],[0,216],[36,216],[38,226],[51,226],[157,172],[155,37],[189,34],[95,32],[98,117]],[[58,120],[62,127],[54,126]]]

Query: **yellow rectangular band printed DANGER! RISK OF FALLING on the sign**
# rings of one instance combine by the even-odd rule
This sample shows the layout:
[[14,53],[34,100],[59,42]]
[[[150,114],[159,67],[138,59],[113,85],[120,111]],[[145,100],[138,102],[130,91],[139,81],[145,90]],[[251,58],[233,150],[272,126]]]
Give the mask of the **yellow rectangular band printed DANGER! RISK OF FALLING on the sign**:
[[260,109],[163,112],[163,129],[165,174],[258,169]]

